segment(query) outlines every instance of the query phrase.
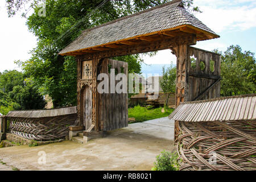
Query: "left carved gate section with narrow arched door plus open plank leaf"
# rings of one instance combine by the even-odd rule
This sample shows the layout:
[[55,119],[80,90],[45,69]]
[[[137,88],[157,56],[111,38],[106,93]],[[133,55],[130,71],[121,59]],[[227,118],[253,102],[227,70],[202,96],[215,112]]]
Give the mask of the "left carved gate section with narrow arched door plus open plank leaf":
[[[108,131],[128,126],[128,94],[110,93],[110,86],[117,85],[118,73],[128,76],[126,62],[99,59],[78,62],[77,79],[77,119],[86,131]],[[113,74],[110,74],[111,69]],[[107,93],[99,93],[96,90],[101,82],[97,80],[100,73],[108,76],[109,90]],[[114,78],[114,81],[113,79]],[[94,80],[97,80],[94,82]],[[95,83],[95,85],[94,85]],[[115,91],[115,89],[114,89]],[[95,93],[95,94],[94,94]],[[93,95],[94,94],[94,95]]]

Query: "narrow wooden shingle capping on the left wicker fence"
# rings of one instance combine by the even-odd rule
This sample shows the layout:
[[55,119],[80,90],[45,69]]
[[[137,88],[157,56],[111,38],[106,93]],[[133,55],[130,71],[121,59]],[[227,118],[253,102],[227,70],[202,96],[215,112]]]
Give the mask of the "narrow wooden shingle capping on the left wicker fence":
[[17,118],[44,118],[68,114],[76,114],[76,106],[63,107],[59,109],[9,111],[9,113],[6,116]]

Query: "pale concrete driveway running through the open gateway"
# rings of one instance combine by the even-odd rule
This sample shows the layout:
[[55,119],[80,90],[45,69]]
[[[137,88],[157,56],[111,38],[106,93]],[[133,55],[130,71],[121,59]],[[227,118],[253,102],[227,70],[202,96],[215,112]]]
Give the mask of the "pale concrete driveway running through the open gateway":
[[110,131],[85,145],[64,141],[0,148],[0,159],[20,170],[150,170],[156,155],[174,149],[173,137],[174,121],[160,118]]

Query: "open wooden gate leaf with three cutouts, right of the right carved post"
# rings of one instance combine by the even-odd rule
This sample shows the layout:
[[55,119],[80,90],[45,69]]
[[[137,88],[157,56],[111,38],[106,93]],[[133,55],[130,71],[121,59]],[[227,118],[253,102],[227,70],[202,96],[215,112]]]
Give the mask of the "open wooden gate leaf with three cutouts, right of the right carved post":
[[220,55],[188,46],[186,101],[220,97]]

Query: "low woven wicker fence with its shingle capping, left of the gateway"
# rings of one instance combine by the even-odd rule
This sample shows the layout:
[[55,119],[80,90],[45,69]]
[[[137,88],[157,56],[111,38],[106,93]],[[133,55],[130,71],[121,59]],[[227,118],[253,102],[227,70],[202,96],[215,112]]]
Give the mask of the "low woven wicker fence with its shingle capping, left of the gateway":
[[7,114],[9,133],[38,141],[64,139],[68,136],[68,127],[73,125],[76,119],[76,107],[11,111]]

